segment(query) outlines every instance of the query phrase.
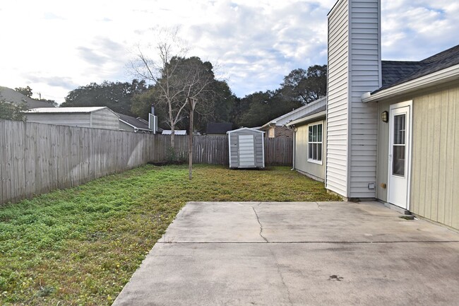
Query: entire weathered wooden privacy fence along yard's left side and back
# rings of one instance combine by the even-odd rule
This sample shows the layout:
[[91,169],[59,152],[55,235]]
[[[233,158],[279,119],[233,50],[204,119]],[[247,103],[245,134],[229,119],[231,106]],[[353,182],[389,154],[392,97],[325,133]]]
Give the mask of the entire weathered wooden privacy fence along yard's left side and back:
[[[189,136],[175,136],[188,160]],[[0,204],[170,157],[169,135],[0,120]],[[266,165],[292,165],[291,139],[266,139]],[[193,163],[228,165],[227,136],[194,136]]]

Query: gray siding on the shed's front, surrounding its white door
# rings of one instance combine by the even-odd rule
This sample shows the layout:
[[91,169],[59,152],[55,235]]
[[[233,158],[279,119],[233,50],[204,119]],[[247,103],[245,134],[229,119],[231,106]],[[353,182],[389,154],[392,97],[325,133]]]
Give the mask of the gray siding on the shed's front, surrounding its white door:
[[229,136],[229,167],[239,167],[239,135],[253,135],[254,136],[254,154],[255,154],[255,165],[256,167],[264,167],[264,144],[263,144],[263,133],[259,131],[233,131],[228,134]]

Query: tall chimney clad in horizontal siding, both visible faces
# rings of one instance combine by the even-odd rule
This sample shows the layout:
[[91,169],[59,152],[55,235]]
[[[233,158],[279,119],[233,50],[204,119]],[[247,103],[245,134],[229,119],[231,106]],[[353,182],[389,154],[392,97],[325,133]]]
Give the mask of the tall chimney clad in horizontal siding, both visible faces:
[[341,0],[328,16],[326,188],[374,198],[376,105],[363,93],[381,87],[380,0]]

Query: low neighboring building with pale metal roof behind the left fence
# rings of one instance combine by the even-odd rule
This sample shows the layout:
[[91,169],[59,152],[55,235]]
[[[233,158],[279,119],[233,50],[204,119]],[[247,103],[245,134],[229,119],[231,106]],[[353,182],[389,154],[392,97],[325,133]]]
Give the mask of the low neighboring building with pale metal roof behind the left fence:
[[119,117],[108,107],[41,107],[27,112],[28,122],[119,130]]

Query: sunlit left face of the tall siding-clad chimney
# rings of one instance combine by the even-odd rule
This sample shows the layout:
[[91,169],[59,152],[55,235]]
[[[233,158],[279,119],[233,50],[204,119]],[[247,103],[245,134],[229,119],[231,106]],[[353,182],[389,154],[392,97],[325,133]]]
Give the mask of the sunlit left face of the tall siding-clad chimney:
[[342,196],[347,196],[347,17],[347,0],[339,1],[328,16],[326,188]]

